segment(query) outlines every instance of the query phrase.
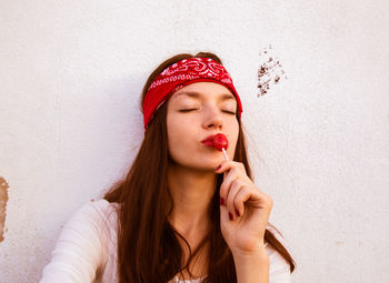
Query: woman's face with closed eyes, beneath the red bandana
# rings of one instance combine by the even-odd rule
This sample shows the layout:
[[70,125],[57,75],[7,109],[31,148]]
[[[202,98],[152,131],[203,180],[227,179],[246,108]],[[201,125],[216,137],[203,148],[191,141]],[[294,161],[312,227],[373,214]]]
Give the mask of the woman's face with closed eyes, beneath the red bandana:
[[232,92],[216,82],[194,82],[176,91],[168,100],[170,158],[182,166],[215,171],[225,155],[201,141],[223,133],[229,144],[227,155],[232,160],[239,134],[237,111]]

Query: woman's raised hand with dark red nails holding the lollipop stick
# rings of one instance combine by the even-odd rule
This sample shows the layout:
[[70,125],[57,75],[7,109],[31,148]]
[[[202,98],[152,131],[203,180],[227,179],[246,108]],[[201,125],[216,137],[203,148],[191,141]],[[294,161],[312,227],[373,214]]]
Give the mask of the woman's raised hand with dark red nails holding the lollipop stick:
[[226,160],[216,172],[225,172],[220,225],[227,244],[232,253],[263,251],[272,199],[252,183],[241,162]]

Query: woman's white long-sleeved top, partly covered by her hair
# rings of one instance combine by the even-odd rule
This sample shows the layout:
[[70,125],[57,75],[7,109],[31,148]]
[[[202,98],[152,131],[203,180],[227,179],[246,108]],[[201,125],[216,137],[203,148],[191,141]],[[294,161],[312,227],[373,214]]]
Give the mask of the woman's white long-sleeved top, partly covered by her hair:
[[[63,226],[40,283],[119,282],[117,209],[117,203],[104,199],[79,209]],[[266,244],[266,251],[270,260],[269,283],[290,283],[288,262],[271,245]],[[200,283],[200,280],[191,282]],[[189,280],[171,282],[190,283]]]

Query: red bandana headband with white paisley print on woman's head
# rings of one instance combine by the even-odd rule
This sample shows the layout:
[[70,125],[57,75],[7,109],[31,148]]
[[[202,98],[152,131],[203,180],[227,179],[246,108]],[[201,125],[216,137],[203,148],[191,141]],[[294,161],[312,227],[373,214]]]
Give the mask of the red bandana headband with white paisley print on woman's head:
[[152,117],[177,90],[193,82],[211,81],[227,87],[236,97],[239,117],[242,105],[232,79],[225,67],[210,58],[183,59],[164,69],[150,84],[143,101],[143,122],[147,130]]

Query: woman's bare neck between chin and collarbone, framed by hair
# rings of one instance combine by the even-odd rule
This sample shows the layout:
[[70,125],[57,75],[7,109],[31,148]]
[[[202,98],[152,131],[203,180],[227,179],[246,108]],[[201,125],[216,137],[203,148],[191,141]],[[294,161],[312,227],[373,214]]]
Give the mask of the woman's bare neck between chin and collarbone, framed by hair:
[[169,165],[168,184],[174,205],[168,219],[178,232],[191,236],[208,231],[216,182],[213,172]]

